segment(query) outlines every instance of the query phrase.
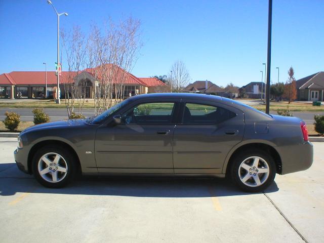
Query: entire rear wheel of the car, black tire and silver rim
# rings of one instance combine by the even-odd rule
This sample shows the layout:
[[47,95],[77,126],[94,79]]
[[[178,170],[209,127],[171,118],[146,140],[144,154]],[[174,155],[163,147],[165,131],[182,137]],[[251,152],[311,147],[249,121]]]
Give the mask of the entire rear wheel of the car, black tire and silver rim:
[[233,182],[240,189],[259,192],[273,182],[276,167],[268,153],[262,150],[249,150],[234,155],[230,173]]

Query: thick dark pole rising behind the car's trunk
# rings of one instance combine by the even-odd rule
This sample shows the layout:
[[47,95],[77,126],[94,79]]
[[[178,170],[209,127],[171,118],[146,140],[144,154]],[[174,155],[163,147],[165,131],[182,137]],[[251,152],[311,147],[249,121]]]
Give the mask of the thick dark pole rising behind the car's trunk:
[[270,112],[270,68],[271,68],[271,25],[272,25],[272,0],[269,0],[268,12],[268,57],[267,57],[267,84],[266,84],[266,102],[265,113]]

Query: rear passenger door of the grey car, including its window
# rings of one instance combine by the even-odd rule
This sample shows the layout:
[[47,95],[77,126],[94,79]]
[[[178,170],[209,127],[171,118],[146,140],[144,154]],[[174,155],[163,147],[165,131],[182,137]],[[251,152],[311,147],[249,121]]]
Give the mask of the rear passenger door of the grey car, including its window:
[[174,173],[222,173],[225,157],[244,134],[244,115],[214,102],[182,103],[174,131]]

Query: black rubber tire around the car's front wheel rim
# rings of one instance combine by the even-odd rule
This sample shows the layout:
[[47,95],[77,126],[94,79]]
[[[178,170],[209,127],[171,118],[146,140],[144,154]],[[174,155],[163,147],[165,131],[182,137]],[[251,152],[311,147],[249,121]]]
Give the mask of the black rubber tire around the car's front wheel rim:
[[[41,158],[45,154],[49,154],[49,156],[54,157],[55,155],[54,154],[52,155],[52,153],[58,154],[63,158],[63,160],[62,160],[62,158],[60,158],[59,166],[61,166],[63,164],[62,167],[64,167],[66,165],[66,173],[59,172],[57,167],[55,168],[57,170],[57,182],[49,182],[43,178],[43,177],[47,177],[50,180],[50,178],[52,177],[52,172],[55,169],[53,169],[48,174],[45,174],[45,176],[43,176],[43,177],[41,176],[41,174],[38,171],[38,163],[44,164],[44,161],[41,161]],[[49,166],[46,165],[45,167],[46,167],[45,169],[48,169],[47,167],[49,167]],[[52,167],[51,167],[51,169],[52,169]],[[68,149],[61,147],[61,146],[54,146],[54,145],[44,146],[41,149],[39,149],[34,154],[34,156],[32,158],[32,173],[33,173],[35,179],[45,187],[49,187],[49,188],[64,187],[75,177],[76,172],[77,172],[77,163],[75,163],[75,158],[74,158],[73,154],[71,153],[71,151],[69,151]],[[60,175],[61,175],[61,177],[60,177]],[[52,179],[52,180],[54,180],[54,179]]]

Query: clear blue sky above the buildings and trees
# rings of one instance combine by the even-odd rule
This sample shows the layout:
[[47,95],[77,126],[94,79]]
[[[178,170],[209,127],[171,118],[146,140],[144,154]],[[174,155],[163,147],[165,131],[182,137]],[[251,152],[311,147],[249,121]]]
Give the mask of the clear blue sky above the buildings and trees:
[[[142,22],[144,46],[133,69],[139,77],[163,75],[182,60],[192,81],[237,86],[261,80],[267,54],[268,1],[53,0],[61,26],[101,25],[130,15]],[[324,1],[273,0],[271,80],[286,82],[324,71]],[[0,0],[0,73],[54,70],[57,17],[46,0]],[[64,60],[63,60],[64,70]]]

